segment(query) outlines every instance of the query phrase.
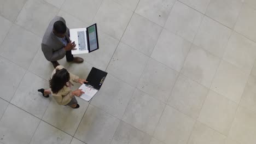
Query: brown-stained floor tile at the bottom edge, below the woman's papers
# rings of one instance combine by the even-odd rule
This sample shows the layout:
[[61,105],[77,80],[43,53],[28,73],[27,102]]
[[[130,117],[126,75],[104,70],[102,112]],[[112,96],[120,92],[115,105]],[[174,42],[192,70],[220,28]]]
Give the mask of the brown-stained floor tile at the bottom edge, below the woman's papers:
[[110,116],[96,106],[89,105],[74,137],[85,143],[109,144],[119,122],[118,118]]

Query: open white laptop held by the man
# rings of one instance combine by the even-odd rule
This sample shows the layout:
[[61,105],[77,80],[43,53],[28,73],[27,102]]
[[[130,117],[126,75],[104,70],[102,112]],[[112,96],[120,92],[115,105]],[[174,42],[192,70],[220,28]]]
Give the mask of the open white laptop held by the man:
[[75,49],[72,55],[80,53],[90,53],[98,49],[97,25],[91,25],[87,28],[69,29],[71,41],[75,41]]

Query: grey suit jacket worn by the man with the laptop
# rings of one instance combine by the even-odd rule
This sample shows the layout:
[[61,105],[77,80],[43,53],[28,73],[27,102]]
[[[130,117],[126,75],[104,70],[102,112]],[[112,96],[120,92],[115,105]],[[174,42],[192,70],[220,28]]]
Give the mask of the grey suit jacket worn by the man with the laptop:
[[[44,33],[44,37],[41,44],[45,58],[51,62],[62,59],[63,57],[65,57],[66,54],[66,51],[64,50],[65,45],[53,33],[53,25],[56,21],[63,21],[64,23],[66,23],[63,17],[60,16],[56,16],[53,20],[51,20],[48,28],[46,29],[46,32]],[[68,35],[69,29],[67,28],[65,36],[68,42],[70,42]]]

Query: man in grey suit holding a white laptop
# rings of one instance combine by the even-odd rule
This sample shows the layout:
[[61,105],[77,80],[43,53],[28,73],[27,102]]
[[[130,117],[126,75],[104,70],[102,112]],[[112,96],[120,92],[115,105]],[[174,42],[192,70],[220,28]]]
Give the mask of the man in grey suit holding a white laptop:
[[54,68],[60,65],[57,61],[66,55],[68,62],[82,63],[83,58],[74,57],[71,50],[74,49],[75,43],[69,39],[69,29],[65,20],[56,16],[51,20],[42,40],[42,51],[45,58],[53,63]]

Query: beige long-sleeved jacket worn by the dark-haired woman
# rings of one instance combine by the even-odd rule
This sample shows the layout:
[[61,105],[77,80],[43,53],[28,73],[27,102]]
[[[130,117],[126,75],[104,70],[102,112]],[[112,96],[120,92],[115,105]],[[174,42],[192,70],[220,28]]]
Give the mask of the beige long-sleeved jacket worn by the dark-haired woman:
[[[62,65],[57,66],[53,73],[51,74],[51,77],[53,77],[53,75],[56,73],[56,69],[63,69],[64,67]],[[69,73],[69,72],[68,72]],[[69,73],[70,76],[70,81],[71,84],[73,85],[72,82],[78,82],[79,77],[76,75],[73,75],[71,73]],[[51,94],[53,95],[54,99],[57,101],[58,104],[60,105],[67,105],[71,99],[74,97],[74,95],[72,95],[72,90],[71,88],[64,86],[58,93],[53,93],[51,92]]]

